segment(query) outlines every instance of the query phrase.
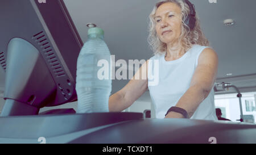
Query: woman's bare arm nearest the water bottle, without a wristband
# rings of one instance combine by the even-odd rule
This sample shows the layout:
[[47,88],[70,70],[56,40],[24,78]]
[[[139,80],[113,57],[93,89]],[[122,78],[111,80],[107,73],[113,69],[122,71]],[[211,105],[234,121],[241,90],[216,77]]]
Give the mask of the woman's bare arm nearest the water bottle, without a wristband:
[[[142,76],[144,75],[144,76]],[[143,79],[146,77],[146,79]],[[147,90],[147,61],[125,87],[109,98],[109,111],[120,112],[130,107]]]

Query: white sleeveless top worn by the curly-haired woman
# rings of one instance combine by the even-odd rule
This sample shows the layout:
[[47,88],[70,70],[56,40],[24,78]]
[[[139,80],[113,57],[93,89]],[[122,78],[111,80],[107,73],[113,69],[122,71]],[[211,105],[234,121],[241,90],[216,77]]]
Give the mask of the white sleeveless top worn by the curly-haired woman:
[[[193,45],[177,60],[166,61],[155,55],[148,62],[148,89],[156,118],[164,118],[168,109],[175,106],[188,90],[200,53],[207,47]],[[157,76],[159,75],[159,76]],[[217,120],[214,107],[214,90],[200,103],[191,119]]]

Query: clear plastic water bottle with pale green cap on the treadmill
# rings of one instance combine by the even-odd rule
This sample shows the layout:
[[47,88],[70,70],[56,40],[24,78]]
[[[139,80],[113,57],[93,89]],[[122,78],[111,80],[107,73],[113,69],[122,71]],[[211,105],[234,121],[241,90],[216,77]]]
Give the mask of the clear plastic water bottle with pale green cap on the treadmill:
[[[87,26],[90,27],[88,40],[77,58],[77,113],[109,112],[112,89],[109,48],[104,41],[104,31],[95,24]],[[108,65],[98,65],[98,62],[108,62]],[[108,73],[101,72],[104,68]]]

